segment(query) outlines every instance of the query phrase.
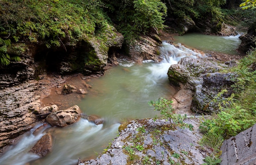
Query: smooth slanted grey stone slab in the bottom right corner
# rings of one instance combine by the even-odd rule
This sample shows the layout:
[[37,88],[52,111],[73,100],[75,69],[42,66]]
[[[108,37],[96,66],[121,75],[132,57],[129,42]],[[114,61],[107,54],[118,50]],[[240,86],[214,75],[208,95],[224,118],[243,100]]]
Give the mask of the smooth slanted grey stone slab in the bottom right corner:
[[225,140],[220,150],[220,165],[256,164],[256,125]]

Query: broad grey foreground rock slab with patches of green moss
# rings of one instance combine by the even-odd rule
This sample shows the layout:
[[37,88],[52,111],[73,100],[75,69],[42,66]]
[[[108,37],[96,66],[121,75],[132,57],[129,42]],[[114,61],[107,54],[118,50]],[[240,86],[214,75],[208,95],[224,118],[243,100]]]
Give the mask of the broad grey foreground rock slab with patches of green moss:
[[184,121],[194,130],[181,129],[166,120],[139,119],[119,127],[119,136],[112,145],[95,160],[79,165],[126,165],[126,164],[202,164],[211,152],[198,142],[198,119]]

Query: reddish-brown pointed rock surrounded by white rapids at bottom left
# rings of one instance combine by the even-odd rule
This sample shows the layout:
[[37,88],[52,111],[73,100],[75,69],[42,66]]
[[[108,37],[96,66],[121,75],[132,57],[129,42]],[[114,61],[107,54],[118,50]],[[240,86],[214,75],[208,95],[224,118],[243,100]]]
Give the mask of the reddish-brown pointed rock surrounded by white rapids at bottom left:
[[30,150],[34,154],[39,155],[40,157],[46,156],[49,152],[52,151],[52,136],[50,134],[45,134],[41,139],[36,142],[34,147]]

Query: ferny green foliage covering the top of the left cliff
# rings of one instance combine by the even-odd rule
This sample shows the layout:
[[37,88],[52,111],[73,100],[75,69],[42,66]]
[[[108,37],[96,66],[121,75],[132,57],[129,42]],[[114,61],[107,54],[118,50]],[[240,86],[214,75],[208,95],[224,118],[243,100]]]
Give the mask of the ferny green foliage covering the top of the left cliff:
[[61,46],[67,36],[71,44],[92,36],[108,22],[101,0],[1,0],[0,8],[1,34],[15,42],[45,40],[47,48]]

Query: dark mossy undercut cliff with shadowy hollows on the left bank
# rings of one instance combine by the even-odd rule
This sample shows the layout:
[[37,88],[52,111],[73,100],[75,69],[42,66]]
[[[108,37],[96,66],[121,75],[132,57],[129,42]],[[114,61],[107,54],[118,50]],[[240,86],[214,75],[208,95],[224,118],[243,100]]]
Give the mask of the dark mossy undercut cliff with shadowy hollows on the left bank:
[[13,43],[13,50],[8,53],[18,55],[21,61],[11,62],[8,66],[0,65],[0,89],[38,78],[38,75],[47,72],[102,75],[108,63],[109,50],[115,52],[124,42],[123,35],[112,26],[108,26],[102,35],[104,40],[84,36],[72,45],[67,37],[60,47],[52,48],[47,48],[43,42],[33,45],[28,42]]

